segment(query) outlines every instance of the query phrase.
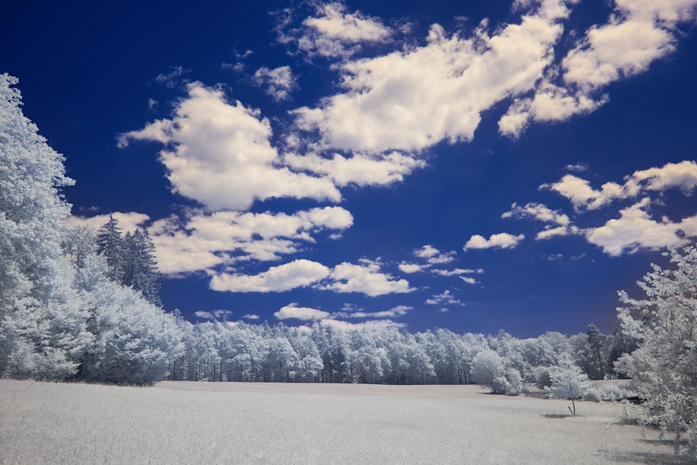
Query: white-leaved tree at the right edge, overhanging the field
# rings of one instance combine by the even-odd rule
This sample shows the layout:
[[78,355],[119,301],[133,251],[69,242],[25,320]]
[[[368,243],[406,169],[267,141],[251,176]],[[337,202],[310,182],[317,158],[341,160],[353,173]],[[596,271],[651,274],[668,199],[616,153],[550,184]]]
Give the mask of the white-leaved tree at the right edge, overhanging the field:
[[[618,309],[622,331],[639,342],[616,365],[631,377],[640,397],[641,420],[675,434],[675,453],[687,434],[692,459],[697,458],[697,247],[665,254],[675,269],[652,264],[653,271],[637,284],[645,298],[630,298]],[[638,312],[634,319],[631,312]]]

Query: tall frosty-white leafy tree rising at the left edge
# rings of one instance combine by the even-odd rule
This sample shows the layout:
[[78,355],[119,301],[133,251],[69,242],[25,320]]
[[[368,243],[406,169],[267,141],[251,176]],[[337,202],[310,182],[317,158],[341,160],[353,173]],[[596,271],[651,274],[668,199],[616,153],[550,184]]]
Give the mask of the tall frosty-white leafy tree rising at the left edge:
[[60,189],[72,179],[15,84],[0,75],[0,376],[65,379],[89,340],[61,253],[70,205]]

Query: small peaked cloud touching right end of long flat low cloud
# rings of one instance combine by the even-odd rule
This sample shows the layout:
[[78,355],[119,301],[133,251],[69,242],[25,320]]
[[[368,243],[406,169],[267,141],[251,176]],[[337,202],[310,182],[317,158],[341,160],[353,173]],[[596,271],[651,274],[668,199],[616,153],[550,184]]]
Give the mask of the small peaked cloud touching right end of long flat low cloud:
[[361,259],[360,265],[342,263],[332,270],[329,278],[334,282],[321,286],[321,289],[332,291],[359,292],[367,296],[382,296],[383,294],[395,294],[411,292],[409,282],[404,279],[395,279],[388,273],[380,272],[381,264],[378,261]]

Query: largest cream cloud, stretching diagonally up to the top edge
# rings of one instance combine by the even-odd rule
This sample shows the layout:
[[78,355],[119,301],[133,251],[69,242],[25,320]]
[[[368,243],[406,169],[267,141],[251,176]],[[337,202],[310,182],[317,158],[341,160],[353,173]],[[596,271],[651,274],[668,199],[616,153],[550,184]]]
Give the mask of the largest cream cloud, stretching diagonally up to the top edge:
[[565,1],[545,1],[491,37],[485,22],[471,38],[434,24],[427,45],[342,63],[346,92],[296,110],[298,126],[318,130],[326,146],[364,153],[470,140],[484,110],[535,88],[567,15]]

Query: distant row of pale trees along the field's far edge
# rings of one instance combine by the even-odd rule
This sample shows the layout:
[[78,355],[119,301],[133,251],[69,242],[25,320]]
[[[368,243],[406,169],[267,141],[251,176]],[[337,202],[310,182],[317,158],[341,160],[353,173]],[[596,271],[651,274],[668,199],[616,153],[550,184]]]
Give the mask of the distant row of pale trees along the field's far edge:
[[[594,366],[598,353],[595,325],[570,338],[545,333],[521,340],[503,330],[484,337],[447,329],[415,334],[395,328],[300,330],[282,323],[192,324],[181,318],[178,324],[185,349],[171,360],[168,376],[176,381],[479,383],[492,392],[518,394],[523,382],[551,386],[550,371],[560,364],[575,363],[579,372]],[[601,353],[609,357],[617,342],[602,336]],[[583,373],[594,379],[622,376],[610,359],[601,362],[606,372]]]

